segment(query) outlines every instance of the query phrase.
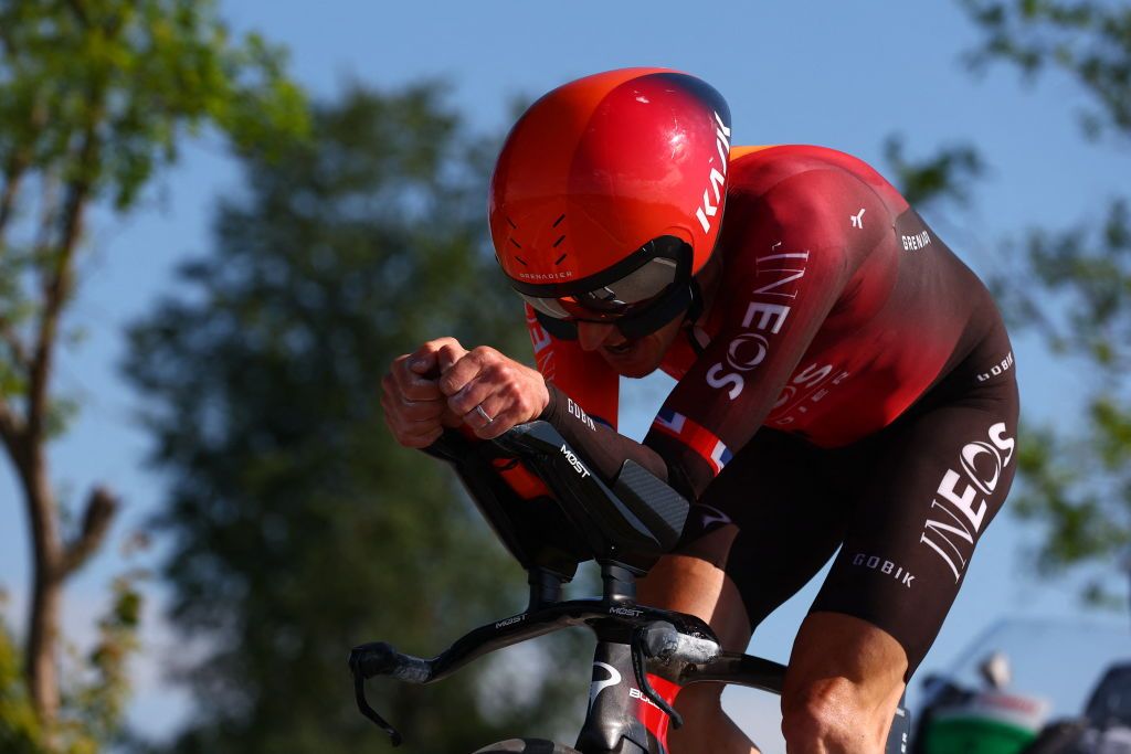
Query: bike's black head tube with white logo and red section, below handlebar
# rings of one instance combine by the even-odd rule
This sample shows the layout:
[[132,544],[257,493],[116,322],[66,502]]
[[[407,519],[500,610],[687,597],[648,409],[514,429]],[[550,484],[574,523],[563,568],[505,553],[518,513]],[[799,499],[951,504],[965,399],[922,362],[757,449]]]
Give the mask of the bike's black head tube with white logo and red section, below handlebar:
[[[680,687],[648,674],[668,704]],[[598,641],[593,658],[589,710],[577,738],[581,754],[667,754],[668,717],[638,687],[629,644]]]

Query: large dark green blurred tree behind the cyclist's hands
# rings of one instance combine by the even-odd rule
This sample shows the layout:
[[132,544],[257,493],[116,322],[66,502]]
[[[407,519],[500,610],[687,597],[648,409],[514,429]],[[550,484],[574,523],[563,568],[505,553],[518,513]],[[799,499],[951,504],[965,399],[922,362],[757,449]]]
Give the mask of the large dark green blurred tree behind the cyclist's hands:
[[[353,90],[314,137],[247,162],[215,251],[132,331],[128,373],[172,484],[173,617],[204,655],[179,752],[386,745],[353,704],[346,650],[383,639],[431,656],[525,597],[454,478],[396,445],[379,407],[390,361],[425,339],[529,350],[484,236],[493,149],[434,87]],[[509,699],[484,694],[492,678]],[[473,751],[552,727],[555,687],[518,681],[481,660],[370,693],[408,751]],[[566,690],[573,707],[585,681]]]

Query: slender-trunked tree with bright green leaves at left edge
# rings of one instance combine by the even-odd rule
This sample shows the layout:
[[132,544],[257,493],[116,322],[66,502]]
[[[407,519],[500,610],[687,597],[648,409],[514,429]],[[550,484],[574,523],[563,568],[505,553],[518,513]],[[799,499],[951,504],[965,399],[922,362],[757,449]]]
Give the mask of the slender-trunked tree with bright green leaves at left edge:
[[[46,453],[76,409],[52,378],[88,216],[131,209],[179,141],[205,127],[245,150],[301,132],[305,107],[282,60],[262,40],[230,40],[207,1],[0,0],[0,440],[34,563],[21,679],[0,677],[0,696],[21,701],[6,702],[15,717],[0,726],[24,731],[28,746],[95,751],[112,734],[136,627],[127,580],[100,652],[61,687],[62,587],[98,551],[118,506],[95,487],[80,511],[63,511]],[[84,685],[92,674],[98,683]]]

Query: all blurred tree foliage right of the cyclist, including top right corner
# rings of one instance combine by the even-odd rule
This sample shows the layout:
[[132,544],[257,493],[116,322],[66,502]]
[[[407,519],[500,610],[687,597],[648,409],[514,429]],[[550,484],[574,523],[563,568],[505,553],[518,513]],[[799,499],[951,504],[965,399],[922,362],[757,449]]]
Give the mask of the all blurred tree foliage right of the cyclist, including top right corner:
[[[1097,148],[1125,149],[1131,136],[1131,6],[1126,2],[961,0],[984,36],[969,62],[1016,66],[1030,83],[1050,72],[1074,83],[1089,103],[1083,135]],[[1107,144],[1099,137],[1108,137]],[[961,151],[961,150],[958,150]],[[920,185],[956,150],[903,165]],[[897,153],[898,154],[898,153]],[[1125,159],[1125,154],[1113,158]],[[948,162],[949,161],[949,162]],[[984,158],[976,153],[970,164]],[[922,168],[920,171],[918,168]],[[924,177],[925,175],[925,177]],[[935,181],[935,199],[961,196],[976,174]],[[1131,211],[1128,196],[1072,227],[1030,227],[1003,244],[1008,278],[994,280],[1007,317],[1038,333],[1071,364],[1080,416],[1055,425],[1028,421],[1019,452],[1015,510],[1043,525],[1038,564],[1080,569],[1086,596],[1111,600],[1131,547]],[[1025,369],[1019,363],[1019,369]],[[1122,600],[1121,600],[1122,601]]]

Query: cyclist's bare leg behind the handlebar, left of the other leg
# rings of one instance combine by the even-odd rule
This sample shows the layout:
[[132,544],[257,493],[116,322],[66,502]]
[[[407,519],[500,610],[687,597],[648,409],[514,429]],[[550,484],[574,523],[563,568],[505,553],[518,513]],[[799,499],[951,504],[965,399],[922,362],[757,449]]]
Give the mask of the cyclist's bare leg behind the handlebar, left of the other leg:
[[[729,545],[729,543],[727,543]],[[707,561],[687,555],[659,560],[640,582],[640,604],[694,615],[710,625],[723,648],[744,651],[751,627],[734,582]],[[758,747],[723,711],[723,685],[691,684],[680,692],[675,709],[683,727],[668,729],[671,754],[751,754]]]

